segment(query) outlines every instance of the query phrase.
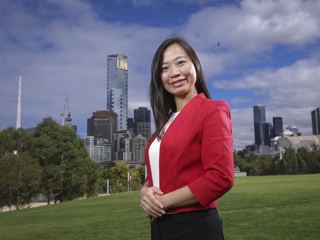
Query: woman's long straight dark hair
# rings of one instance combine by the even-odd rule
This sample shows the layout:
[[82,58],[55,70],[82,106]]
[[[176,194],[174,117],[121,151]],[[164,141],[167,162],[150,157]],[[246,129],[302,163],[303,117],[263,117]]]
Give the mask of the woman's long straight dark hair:
[[177,110],[174,96],[164,89],[160,76],[162,54],[170,45],[174,43],[179,44],[182,48],[184,48],[196,69],[195,87],[198,94],[204,93],[207,99],[211,99],[198,56],[187,40],[182,36],[173,36],[164,40],[158,47],[152,60],[151,82],[149,87],[149,102],[153,112],[158,139],[162,139],[163,137],[164,133],[162,128],[168,120],[167,118],[170,110]]

